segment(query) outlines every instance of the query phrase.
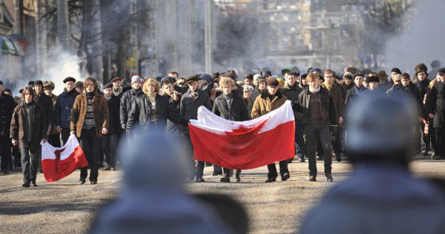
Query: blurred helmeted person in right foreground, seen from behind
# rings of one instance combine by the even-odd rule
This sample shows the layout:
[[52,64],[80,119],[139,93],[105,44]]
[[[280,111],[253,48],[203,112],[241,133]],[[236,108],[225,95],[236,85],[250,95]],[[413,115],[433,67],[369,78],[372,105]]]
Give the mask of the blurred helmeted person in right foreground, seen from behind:
[[307,213],[300,233],[445,233],[444,193],[409,172],[416,104],[370,95],[351,109],[354,172]]

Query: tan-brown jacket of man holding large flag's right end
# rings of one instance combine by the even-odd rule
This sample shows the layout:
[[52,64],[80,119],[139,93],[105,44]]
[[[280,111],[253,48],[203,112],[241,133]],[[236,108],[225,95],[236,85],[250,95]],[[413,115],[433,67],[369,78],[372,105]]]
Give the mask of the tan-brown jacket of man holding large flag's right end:
[[282,95],[280,90],[277,91],[272,102],[270,102],[269,97],[267,97],[267,91],[262,92],[262,94],[259,95],[253,103],[251,112],[252,119],[260,117],[262,115],[266,115],[272,110],[280,108],[283,104],[285,104],[286,100],[287,97],[285,95]]

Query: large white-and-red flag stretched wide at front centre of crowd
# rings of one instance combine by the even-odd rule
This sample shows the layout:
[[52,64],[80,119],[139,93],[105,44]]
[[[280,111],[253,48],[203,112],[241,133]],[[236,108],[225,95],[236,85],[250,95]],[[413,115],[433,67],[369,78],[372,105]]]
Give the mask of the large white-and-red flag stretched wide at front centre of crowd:
[[193,159],[226,169],[254,169],[295,154],[295,119],[290,101],[256,119],[234,122],[198,109],[188,124]]

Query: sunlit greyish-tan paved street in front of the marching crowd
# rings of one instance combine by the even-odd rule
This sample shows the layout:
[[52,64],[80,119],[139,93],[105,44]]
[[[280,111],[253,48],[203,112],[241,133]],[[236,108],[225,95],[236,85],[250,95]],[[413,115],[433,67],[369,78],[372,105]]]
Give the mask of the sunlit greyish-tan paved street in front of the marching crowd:
[[[317,165],[322,169],[322,163]],[[419,176],[445,176],[445,161],[419,160],[412,168]],[[305,211],[317,203],[327,188],[349,176],[348,163],[335,162],[334,183],[319,176],[307,182],[307,162],[290,164],[289,181],[265,184],[266,167],[243,171],[240,183],[223,184],[219,176],[206,183],[188,184],[193,193],[225,193],[240,201],[250,216],[250,233],[295,233]],[[21,188],[21,174],[0,176],[0,233],[85,233],[100,204],[116,196],[121,171],[100,171],[96,186],[78,185],[79,171],[53,184],[38,174],[37,188]]]

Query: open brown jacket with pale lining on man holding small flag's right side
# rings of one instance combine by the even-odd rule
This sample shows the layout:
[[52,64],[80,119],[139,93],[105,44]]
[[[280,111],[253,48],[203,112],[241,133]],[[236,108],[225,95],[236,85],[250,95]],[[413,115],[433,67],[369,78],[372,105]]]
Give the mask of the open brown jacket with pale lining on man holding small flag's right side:
[[[103,127],[108,128],[108,105],[105,97],[97,91],[93,97],[94,122],[96,122],[96,136],[102,137]],[[70,129],[76,132],[77,137],[81,137],[83,121],[85,120],[86,109],[88,103],[86,101],[86,92],[78,95],[74,101],[73,110],[71,111]]]

